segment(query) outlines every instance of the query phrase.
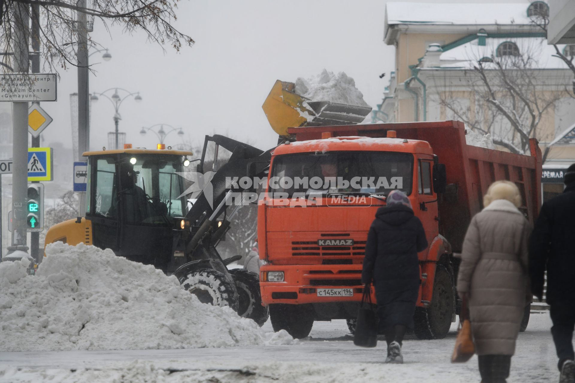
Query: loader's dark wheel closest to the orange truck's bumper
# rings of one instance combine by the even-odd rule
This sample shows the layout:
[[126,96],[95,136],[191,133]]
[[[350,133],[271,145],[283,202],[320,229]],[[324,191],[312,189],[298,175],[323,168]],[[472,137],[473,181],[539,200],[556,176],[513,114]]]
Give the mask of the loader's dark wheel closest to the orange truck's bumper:
[[236,283],[239,305],[237,315],[250,318],[261,327],[270,316],[266,306],[262,306],[262,293],[259,290],[259,275],[250,270],[232,269],[233,281]]

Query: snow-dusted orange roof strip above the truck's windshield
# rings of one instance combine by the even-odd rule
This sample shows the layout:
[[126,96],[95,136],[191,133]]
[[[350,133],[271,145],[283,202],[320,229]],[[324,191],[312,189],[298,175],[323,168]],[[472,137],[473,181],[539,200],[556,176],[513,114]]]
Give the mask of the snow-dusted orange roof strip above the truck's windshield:
[[407,152],[433,154],[431,146],[426,141],[405,140],[404,138],[386,137],[332,137],[319,140],[296,141],[290,144],[279,145],[274,149],[273,155],[308,152],[335,152],[335,151],[373,150],[385,152]]

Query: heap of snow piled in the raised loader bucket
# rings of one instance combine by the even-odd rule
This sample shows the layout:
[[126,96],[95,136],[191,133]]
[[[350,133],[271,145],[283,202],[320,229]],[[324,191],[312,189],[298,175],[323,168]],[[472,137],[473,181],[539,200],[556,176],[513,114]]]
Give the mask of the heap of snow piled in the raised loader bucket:
[[327,70],[308,79],[297,78],[296,93],[312,101],[331,101],[340,104],[369,106],[355,81],[344,72],[337,75]]

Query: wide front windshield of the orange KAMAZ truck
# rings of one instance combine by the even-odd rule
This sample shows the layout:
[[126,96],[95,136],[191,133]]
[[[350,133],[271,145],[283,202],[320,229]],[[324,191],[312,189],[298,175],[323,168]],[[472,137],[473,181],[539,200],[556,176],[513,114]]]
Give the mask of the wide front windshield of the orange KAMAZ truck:
[[413,155],[396,152],[297,153],[277,156],[269,192],[346,192],[387,195],[394,189],[410,195]]

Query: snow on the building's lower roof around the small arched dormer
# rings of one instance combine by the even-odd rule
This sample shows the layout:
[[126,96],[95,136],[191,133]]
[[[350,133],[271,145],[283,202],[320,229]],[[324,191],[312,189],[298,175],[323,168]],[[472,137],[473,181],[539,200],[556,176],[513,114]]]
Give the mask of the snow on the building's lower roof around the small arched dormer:
[[[529,55],[534,59],[534,68],[539,69],[566,69],[567,65],[558,57],[553,57],[557,52],[553,45],[547,45],[543,37],[521,38],[486,38],[485,45],[478,45],[478,40],[467,42],[453,49],[443,52],[440,56],[440,68],[472,68],[477,60],[482,57],[494,57],[497,47],[503,42],[514,42],[523,55]],[[558,45],[563,50],[565,45]],[[488,67],[489,63],[484,63]],[[423,69],[423,68],[422,68]]]

